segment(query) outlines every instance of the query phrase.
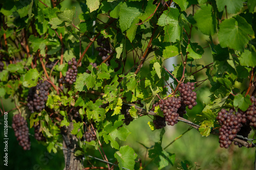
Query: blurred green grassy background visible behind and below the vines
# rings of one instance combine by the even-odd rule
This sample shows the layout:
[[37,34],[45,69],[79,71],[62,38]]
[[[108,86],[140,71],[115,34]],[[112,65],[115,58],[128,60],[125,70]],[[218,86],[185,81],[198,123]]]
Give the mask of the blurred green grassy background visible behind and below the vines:
[[[71,8],[76,6],[77,16],[81,12],[80,6],[76,1],[63,1],[61,3],[61,9]],[[191,8],[186,12],[190,13]],[[78,19],[78,17],[76,17]],[[192,42],[198,42],[201,46],[206,47],[208,43],[206,40],[209,38],[200,33],[200,31],[193,29],[193,34],[196,35],[191,39]],[[218,38],[213,37],[214,41],[218,43]],[[202,59],[197,60],[197,64],[207,65],[212,62],[212,56],[210,48],[204,48],[204,56]],[[177,63],[180,62],[180,56],[176,57]],[[132,56],[131,56],[132,59]],[[131,61],[131,63],[133,63]],[[174,63],[175,64],[175,63]],[[193,63],[196,64],[196,63]],[[201,67],[200,67],[201,68]],[[200,69],[198,68],[198,69]],[[144,71],[147,70],[147,66],[144,66]],[[194,68],[193,68],[194,69]],[[204,80],[207,77],[203,74],[203,71],[198,72],[197,81]],[[243,84],[238,84],[238,88],[244,87],[247,82]],[[204,108],[204,104],[209,102],[209,92],[207,88],[209,87],[209,82],[206,81],[200,85],[197,90],[197,102],[198,105],[187,112],[188,119],[193,122],[195,116],[200,114]],[[8,111],[15,107],[15,105],[10,100],[3,99],[4,110]],[[1,106],[1,105],[0,105]],[[2,107],[2,106],[1,106]],[[3,108],[2,108],[3,109]],[[12,112],[8,112],[8,124],[11,126],[12,122]],[[3,124],[3,116],[0,116],[0,123]],[[131,132],[127,140],[120,142],[122,145],[130,145],[134,148],[135,152],[138,154],[137,158],[141,159],[142,165],[146,165],[151,161],[148,158],[148,152],[143,145],[150,148],[155,142],[159,141],[159,136],[161,130],[151,131],[147,125],[148,121],[152,121],[152,118],[149,116],[142,116],[138,119],[133,120],[129,126],[126,126],[127,129]],[[1,129],[1,144],[0,144],[0,157],[3,158],[3,136],[4,130],[3,125],[0,125]],[[166,147],[170,142],[179,137],[183,132],[187,131],[189,128],[185,123],[179,122],[174,127],[165,127],[165,134],[163,136],[162,147]],[[33,129],[30,129],[30,133],[34,134]],[[253,132],[249,135],[249,138],[253,138]],[[18,145],[16,137],[12,129],[8,131],[8,167],[3,165],[3,162],[0,164],[0,169],[63,169],[65,167],[65,162],[63,158],[63,153],[61,150],[58,150],[57,154],[47,153],[46,146],[42,143],[37,142],[32,136],[31,138],[31,150],[23,151],[23,149]],[[224,169],[253,169],[254,158],[255,158],[255,148],[238,148],[235,145],[230,145],[228,149],[220,148],[218,142],[218,136],[210,135],[208,137],[202,137],[200,133],[191,129],[174,143],[167,147],[166,151],[169,153],[176,154],[174,166],[169,165],[164,169],[178,169],[181,165],[181,162],[185,160],[190,162],[190,167],[194,166],[192,169],[204,169],[204,170],[224,170]],[[109,156],[110,162],[116,162],[114,159],[115,150],[110,147],[104,148],[106,156]],[[95,157],[101,158],[98,151],[95,151]],[[91,160],[92,162],[95,160]],[[104,165],[104,163],[102,163]],[[197,167],[195,167],[198,165]],[[136,163],[136,169],[139,168],[139,162]],[[115,167],[118,169],[118,167]],[[154,162],[150,162],[145,169],[157,169],[157,166]]]

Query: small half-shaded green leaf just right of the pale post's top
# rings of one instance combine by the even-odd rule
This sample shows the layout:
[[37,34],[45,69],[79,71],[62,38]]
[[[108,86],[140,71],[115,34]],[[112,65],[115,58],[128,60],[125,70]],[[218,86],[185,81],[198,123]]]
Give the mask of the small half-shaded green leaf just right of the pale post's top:
[[200,59],[204,54],[204,49],[198,43],[189,43],[186,51],[189,53],[187,57],[193,59]]

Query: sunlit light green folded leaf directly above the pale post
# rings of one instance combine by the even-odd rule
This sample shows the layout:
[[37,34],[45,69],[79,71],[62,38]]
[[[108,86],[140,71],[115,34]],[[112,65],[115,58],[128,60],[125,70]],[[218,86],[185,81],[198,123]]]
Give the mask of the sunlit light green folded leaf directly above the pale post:
[[167,42],[176,42],[180,40],[182,26],[179,22],[180,12],[176,8],[169,8],[163,11],[159,17],[157,24],[164,27],[164,40]]

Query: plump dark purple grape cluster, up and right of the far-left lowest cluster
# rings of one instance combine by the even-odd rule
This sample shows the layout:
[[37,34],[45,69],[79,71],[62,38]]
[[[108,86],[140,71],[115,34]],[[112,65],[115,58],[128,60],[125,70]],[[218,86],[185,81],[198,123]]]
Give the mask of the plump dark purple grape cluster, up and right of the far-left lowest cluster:
[[45,104],[48,99],[49,88],[51,86],[52,85],[48,81],[42,82],[40,80],[35,87],[31,87],[29,89],[27,106],[32,113],[35,111],[40,112],[45,108]]

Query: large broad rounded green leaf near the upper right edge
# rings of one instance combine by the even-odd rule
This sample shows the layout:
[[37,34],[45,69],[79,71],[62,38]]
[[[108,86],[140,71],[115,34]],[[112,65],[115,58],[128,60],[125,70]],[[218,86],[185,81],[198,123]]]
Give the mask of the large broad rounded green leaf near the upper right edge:
[[254,32],[247,21],[241,17],[225,19],[220,25],[218,33],[222,47],[230,47],[234,50],[243,51]]

